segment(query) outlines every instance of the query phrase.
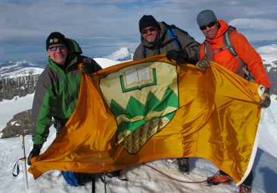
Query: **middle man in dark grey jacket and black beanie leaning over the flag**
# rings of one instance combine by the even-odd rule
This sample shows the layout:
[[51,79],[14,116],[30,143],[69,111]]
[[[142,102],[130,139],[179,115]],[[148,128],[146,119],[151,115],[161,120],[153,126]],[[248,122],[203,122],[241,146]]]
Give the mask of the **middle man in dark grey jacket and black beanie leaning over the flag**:
[[[134,52],[134,60],[154,55],[166,54],[177,64],[196,64],[199,60],[199,43],[188,33],[175,30],[177,39],[168,33],[168,26],[156,21],[152,15],[143,15],[139,20],[141,44]],[[171,37],[170,37],[171,36]],[[188,158],[177,158],[179,171],[189,172]]]

